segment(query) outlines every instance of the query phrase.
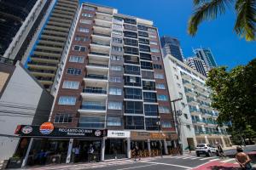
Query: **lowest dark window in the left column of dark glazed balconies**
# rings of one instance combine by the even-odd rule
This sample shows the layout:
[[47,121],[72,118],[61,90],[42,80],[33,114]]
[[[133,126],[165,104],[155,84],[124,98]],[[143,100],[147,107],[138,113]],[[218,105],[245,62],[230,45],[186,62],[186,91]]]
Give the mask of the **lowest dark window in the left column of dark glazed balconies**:
[[144,117],[125,116],[125,129],[144,129]]

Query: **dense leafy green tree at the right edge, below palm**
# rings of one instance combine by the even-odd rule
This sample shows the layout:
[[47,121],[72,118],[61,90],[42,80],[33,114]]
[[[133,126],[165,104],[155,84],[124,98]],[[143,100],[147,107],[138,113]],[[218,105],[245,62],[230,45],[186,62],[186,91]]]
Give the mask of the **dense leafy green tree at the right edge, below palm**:
[[231,122],[236,129],[246,126],[256,132],[256,59],[248,65],[209,71],[207,86],[212,88],[212,107],[219,111],[218,124]]

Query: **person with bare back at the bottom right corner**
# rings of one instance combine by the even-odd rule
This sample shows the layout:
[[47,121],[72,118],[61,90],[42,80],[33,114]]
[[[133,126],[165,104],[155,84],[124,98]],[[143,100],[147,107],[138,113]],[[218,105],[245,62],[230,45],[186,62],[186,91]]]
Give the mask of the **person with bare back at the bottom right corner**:
[[250,163],[252,160],[246,153],[243,152],[241,146],[237,146],[236,151],[236,161],[239,163],[241,169],[252,170],[253,167]]

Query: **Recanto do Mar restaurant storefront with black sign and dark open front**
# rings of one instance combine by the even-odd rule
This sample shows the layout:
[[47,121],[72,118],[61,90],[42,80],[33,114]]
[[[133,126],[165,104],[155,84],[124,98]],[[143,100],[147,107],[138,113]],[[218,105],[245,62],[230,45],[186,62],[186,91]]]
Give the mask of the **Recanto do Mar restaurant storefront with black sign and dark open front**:
[[16,129],[20,143],[15,156],[22,166],[50,163],[102,160],[102,139],[107,130],[54,127],[50,122],[39,126],[20,125]]

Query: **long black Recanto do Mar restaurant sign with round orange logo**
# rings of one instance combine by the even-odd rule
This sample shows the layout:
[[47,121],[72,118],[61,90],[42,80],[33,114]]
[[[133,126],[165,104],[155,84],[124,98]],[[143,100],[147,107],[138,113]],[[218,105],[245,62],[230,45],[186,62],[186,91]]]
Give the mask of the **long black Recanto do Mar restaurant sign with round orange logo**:
[[[44,123],[43,123],[44,124]],[[42,125],[43,125],[42,124]],[[94,137],[102,138],[107,136],[107,130],[85,129],[85,128],[67,128],[67,127],[45,127],[19,125],[16,134],[30,137]],[[30,128],[32,131],[30,132]],[[44,130],[43,130],[44,129]],[[46,129],[46,130],[45,130]]]

